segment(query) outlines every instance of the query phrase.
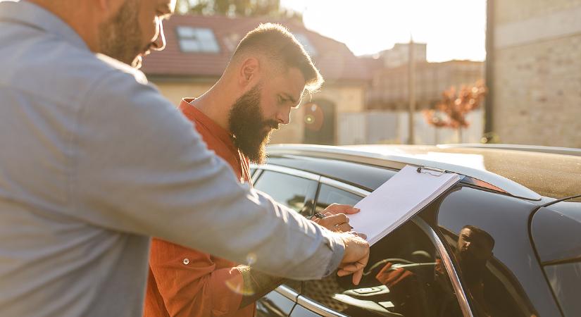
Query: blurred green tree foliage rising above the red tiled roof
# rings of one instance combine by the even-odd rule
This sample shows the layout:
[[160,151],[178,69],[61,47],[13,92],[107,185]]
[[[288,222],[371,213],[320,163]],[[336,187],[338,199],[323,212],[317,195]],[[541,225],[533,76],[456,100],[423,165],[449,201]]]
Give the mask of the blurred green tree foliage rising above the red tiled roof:
[[299,12],[280,6],[280,0],[177,0],[181,13],[228,16],[268,16],[302,21]]

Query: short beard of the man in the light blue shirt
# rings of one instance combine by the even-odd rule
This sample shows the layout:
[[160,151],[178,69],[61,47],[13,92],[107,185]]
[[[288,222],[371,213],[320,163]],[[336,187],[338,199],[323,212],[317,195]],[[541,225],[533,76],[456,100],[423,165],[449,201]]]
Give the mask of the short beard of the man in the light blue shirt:
[[126,0],[119,12],[99,25],[99,53],[141,67],[138,55],[147,50],[142,46],[139,29],[139,0]]

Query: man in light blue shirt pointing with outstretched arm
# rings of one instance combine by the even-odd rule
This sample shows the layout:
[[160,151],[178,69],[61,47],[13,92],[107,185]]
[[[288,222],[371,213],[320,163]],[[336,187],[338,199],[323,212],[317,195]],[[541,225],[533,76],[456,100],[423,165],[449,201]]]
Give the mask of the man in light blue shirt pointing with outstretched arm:
[[150,236],[360,278],[366,242],[240,185],[127,65],[163,49],[174,5],[0,1],[0,316],[141,316]]

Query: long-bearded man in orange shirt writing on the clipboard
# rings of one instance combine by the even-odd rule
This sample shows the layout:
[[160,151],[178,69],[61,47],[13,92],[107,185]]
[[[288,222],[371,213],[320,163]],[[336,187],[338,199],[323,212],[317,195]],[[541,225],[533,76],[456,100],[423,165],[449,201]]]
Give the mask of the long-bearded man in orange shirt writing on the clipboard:
[[[265,24],[242,39],[220,80],[198,99],[182,99],[180,110],[208,148],[251,186],[249,161],[265,161],[270,132],[289,123],[291,108],[300,104],[305,89],[314,92],[322,83],[294,36],[280,25]],[[358,210],[334,204],[325,212],[327,217],[315,220],[319,225],[349,232],[345,213]],[[254,316],[256,299],[282,282],[249,266],[158,239],[151,243],[149,266],[146,317]]]

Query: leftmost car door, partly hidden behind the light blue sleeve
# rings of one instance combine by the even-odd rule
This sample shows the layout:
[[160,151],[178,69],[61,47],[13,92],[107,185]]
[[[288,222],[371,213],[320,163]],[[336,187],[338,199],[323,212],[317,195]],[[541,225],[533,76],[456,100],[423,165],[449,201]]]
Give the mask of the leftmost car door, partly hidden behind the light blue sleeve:
[[[253,174],[254,188],[301,213],[313,215],[319,176],[282,166],[261,166]],[[288,316],[301,292],[301,282],[288,280],[257,301],[257,316]]]

